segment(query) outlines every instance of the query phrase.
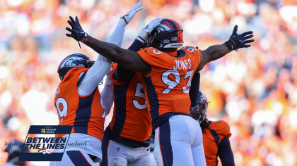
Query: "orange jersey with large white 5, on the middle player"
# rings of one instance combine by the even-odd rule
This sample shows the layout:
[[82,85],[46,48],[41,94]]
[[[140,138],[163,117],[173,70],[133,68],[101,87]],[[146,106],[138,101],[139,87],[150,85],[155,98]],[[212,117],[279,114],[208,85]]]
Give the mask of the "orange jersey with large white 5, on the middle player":
[[[110,139],[126,146],[139,146],[139,141],[149,143],[147,140],[151,136],[152,127],[146,106],[144,79],[140,72],[136,72],[125,82],[117,81],[115,79],[117,63],[113,63],[112,67],[114,69],[112,80],[115,106],[110,129],[107,128],[106,131],[110,133],[112,130],[113,134],[121,136],[122,138]],[[117,136],[114,135],[114,137]]]

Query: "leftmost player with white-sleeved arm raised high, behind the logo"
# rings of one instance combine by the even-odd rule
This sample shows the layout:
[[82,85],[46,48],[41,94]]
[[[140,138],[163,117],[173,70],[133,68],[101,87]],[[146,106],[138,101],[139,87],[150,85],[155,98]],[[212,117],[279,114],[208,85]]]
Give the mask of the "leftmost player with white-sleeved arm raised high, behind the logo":
[[[139,8],[140,6],[141,2],[120,18],[107,42],[121,46],[124,29],[135,13],[142,9],[142,7]],[[74,22],[73,18],[70,19]],[[78,23],[77,18],[76,21]],[[88,37],[83,36],[83,38]],[[95,162],[100,162],[104,120],[112,107],[113,96],[112,80],[106,79],[101,94],[98,91],[98,84],[107,73],[111,63],[110,60],[100,55],[93,63],[88,56],[80,53],[67,56],[60,63],[58,73],[61,82],[54,95],[59,125],[73,126],[67,143],[76,144],[77,142],[82,145],[66,146],[62,161],[51,162],[50,165],[96,165]],[[54,152],[63,151],[64,149],[56,149]]]

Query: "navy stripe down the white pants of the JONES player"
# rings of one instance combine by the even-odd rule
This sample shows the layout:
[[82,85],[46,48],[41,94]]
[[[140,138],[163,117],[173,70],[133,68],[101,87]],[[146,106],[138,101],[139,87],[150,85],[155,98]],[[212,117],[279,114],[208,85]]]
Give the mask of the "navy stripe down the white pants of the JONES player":
[[159,141],[160,141],[160,148],[162,153],[162,159],[164,166],[171,166],[173,165],[173,147],[171,146],[171,139],[170,139],[170,122],[169,120],[165,121],[160,127],[159,132]]

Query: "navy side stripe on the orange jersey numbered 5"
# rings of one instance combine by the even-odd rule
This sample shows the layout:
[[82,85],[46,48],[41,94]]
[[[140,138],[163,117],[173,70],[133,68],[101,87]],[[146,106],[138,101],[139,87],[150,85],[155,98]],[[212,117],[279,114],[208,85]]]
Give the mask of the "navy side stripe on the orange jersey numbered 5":
[[126,96],[132,78],[133,76],[122,85],[113,84],[113,95],[115,98],[115,123],[112,126],[112,132],[119,136],[122,133],[124,123],[126,122]]

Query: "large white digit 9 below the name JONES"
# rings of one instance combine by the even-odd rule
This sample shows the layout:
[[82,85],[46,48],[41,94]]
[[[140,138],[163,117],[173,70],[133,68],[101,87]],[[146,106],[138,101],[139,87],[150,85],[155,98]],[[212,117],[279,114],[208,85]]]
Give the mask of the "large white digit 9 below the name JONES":
[[[175,80],[170,80],[169,75],[174,75]],[[168,87],[162,91],[162,94],[169,94],[171,90],[180,84],[180,72],[177,72],[177,70],[167,70],[162,74],[162,81],[165,85],[168,85]]]

